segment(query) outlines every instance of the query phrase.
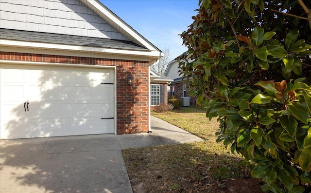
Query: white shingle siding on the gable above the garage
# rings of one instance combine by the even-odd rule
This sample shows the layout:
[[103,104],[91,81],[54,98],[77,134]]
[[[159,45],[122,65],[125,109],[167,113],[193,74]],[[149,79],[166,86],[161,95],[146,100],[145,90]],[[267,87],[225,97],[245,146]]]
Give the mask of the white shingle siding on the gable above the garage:
[[79,0],[1,0],[0,28],[128,40]]

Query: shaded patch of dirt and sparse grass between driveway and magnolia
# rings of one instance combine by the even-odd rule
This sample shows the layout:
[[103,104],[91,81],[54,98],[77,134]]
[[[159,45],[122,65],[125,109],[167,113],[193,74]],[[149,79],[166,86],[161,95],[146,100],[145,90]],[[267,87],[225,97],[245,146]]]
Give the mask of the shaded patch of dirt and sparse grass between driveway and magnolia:
[[204,151],[206,146],[199,142],[122,150],[133,192],[261,193],[259,180],[250,177],[242,158]]

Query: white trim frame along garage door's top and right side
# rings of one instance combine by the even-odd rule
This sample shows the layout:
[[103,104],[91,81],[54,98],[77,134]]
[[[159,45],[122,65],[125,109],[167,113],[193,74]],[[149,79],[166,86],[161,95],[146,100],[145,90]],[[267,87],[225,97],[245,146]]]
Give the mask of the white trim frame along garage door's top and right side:
[[[117,96],[117,85],[116,85],[116,79],[117,79],[117,73],[116,73],[116,67],[115,66],[100,66],[100,65],[85,65],[85,64],[69,64],[69,63],[49,63],[49,62],[27,62],[27,61],[11,61],[11,60],[0,60],[0,64],[15,64],[15,65],[24,65],[24,66],[45,66],[45,67],[50,67],[50,66],[54,66],[54,67],[74,67],[76,69],[79,68],[87,68],[87,69],[112,69],[114,72],[114,77],[113,77],[113,90],[114,90],[114,97],[113,97],[113,133],[117,134],[117,100],[116,100],[116,96]],[[110,87],[111,88],[111,87]],[[111,103],[110,103],[111,104]],[[111,115],[111,114],[110,114]],[[1,137],[1,136],[0,136]],[[3,137],[1,137],[3,138]]]

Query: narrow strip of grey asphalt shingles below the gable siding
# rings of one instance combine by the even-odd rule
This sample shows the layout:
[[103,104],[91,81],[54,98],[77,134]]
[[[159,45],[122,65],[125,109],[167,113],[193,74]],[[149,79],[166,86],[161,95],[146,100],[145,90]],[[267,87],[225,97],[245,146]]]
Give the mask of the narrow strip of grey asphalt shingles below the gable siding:
[[0,39],[67,44],[78,46],[91,46],[91,47],[112,48],[112,49],[138,50],[138,51],[148,50],[147,48],[140,46],[132,41],[72,36],[64,34],[52,34],[44,32],[31,32],[31,31],[3,29],[3,28],[0,28]]

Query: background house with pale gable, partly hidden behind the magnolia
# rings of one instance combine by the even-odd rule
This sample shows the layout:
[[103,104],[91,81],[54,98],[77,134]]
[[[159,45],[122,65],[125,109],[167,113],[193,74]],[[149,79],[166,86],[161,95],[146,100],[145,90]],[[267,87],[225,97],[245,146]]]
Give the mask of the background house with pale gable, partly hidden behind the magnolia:
[[[188,93],[188,84],[183,79],[183,74],[179,72],[179,62],[173,59],[168,63],[167,68],[164,72],[164,76],[172,78],[173,81],[170,84],[170,92],[168,96],[174,96],[176,98],[190,97]],[[186,98],[185,98],[186,99]],[[196,105],[195,97],[190,97],[190,105]],[[184,100],[184,99],[183,99]]]

